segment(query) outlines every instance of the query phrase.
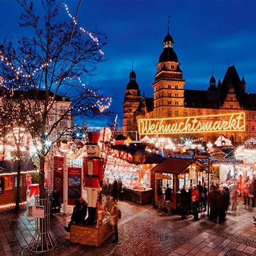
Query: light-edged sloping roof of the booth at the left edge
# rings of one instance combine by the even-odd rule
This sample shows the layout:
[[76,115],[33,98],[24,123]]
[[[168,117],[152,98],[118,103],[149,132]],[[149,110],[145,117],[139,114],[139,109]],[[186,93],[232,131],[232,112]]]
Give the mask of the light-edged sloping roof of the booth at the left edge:
[[[16,174],[18,170],[18,160],[2,160],[0,161],[0,175],[6,174]],[[30,159],[21,161],[21,170],[22,173],[34,172],[35,167],[33,166]]]

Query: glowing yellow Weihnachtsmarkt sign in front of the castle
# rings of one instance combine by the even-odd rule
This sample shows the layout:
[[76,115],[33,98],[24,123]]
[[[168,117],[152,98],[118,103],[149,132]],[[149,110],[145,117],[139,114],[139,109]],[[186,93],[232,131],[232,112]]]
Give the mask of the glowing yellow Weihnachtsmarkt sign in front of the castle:
[[226,131],[245,131],[245,113],[139,119],[140,135],[219,133]]

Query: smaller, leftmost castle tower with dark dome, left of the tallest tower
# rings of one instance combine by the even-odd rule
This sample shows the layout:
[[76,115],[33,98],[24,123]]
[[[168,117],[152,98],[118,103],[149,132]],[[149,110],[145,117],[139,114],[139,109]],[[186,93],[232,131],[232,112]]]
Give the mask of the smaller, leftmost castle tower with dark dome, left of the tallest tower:
[[137,130],[134,112],[141,103],[141,92],[133,70],[129,77],[130,81],[126,86],[125,100],[123,101],[123,135],[125,137],[133,137],[133,134],[129,133],[129,131]]

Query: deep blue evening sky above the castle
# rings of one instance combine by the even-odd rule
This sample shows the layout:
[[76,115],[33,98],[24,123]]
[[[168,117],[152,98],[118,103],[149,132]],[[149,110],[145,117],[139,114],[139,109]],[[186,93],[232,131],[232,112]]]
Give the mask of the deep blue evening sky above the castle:
[[[16,23],[18,4],[1,3],[2,39],[7,33],[19,35]],[[72,14],[79,0],[67,0]],[[207,89],[214,65],[216,80],[222,80],[228,63],[238,75],[245,76],[246,90],[256,93],[256,1],[85,1],[82,0],[78,22],[87,30],[105,32],[107,61],[98,65],[93,84],[114,96],[113,108],[122,124],[122,102],[131,63],[137,82],[152,97],[156,64],[167,34],[167,17],[171,15],[170,34],[174,38],[187,89]],[[63,18],[69,19],[65,11]],[[88,79],[89,81],[89,79]],[[106,122],[92,121],[104,126]]]

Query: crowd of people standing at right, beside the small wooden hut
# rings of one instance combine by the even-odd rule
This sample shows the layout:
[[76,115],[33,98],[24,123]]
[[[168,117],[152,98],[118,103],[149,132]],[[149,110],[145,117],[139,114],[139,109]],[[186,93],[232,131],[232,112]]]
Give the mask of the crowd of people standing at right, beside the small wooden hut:
[[199,220],[199,213],[206,212],[209,204],[210,220],[222,223],[225,221],[228,210],[236,211],[238,196],[243,197],[243,205],[255,207],[256,176],[253,179],[248,176],[243,178],[242,175],[238,179],[227,177],[223,184],[212,181],[209,192],[206,183],[191,184],[188,189],[184,185],[180,194],[181,218],[192,214],[195,220]]

